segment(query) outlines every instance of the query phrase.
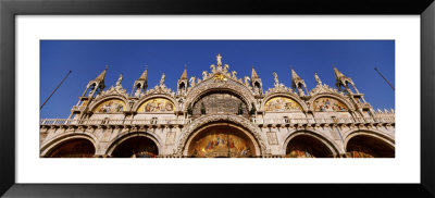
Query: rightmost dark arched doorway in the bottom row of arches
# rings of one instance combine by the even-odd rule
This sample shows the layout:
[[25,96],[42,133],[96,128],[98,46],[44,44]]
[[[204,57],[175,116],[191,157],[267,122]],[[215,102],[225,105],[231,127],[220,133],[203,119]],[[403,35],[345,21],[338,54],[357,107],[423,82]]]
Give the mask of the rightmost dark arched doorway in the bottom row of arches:
[[369,135],[357,135],[346,146],[348,158],[394,158],[395,149],[389,144]]

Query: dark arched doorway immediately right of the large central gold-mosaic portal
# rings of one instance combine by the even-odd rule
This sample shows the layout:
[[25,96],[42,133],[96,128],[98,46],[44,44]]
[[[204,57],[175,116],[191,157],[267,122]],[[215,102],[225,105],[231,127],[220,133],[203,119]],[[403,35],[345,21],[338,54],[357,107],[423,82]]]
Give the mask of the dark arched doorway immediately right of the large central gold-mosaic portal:
[[287,158],[334,158],[331,149],[318,138],[310,135],[298,135],[288,141]]

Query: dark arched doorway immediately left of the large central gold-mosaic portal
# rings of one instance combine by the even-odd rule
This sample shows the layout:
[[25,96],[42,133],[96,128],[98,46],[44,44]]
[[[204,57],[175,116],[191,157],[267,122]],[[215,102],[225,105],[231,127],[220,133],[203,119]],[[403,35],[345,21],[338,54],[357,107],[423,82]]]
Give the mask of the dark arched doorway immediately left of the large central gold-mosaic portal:
[[156,158],[159,149],[154,141],[145,136],[130,137],[122,141],[112,152],[113,158]]

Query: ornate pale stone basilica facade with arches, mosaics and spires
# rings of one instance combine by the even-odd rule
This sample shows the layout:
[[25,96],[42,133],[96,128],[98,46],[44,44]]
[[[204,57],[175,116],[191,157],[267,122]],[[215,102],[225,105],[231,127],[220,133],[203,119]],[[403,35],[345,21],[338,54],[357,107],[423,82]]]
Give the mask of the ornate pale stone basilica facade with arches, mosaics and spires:
[[148,87],[148,70],[127,92],[105,89],[107,69],[89,81],[67,119],[40,120],[41,158],[394,158],[394,110],[374,110],[350,77],[333,67],[336,88],[306,83],[263,90],[216,63],[200,77]]

